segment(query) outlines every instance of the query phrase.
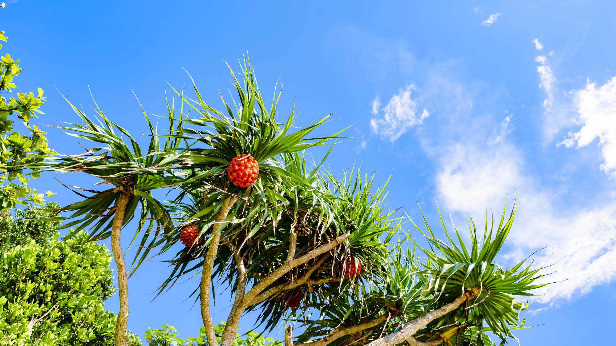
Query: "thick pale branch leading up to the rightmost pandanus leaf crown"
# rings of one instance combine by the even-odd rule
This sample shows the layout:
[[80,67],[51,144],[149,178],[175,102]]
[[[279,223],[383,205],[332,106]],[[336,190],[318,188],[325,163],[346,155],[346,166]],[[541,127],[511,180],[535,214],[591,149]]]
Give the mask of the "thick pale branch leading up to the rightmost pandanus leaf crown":
[[[373,342],[370,342],[368,346],[392,346],[396,344],[400,344],[401,342],[407,341],[411,346],[425,346],[432,345],[425,342],[420,342],[413,338],[413,335],[421,328],[424,328],[431,321],[436,320],[439,317],[445,316],[447,313],[455,310],[467,299],[472,297],[476,297],[480,293],[480,288],[471,288],[468,291],[465,291],[460,297],[457,297],[453,302],[445,305],[444,307],[438,308],[436,310],[432,310],[431,312],[423,315],[416,320],[411,321],[404,329],[397,331],[395,333],[389,334],[388,336],[381,337],[381,339],[376,339]],[[434,340],[437,341],[437,340]],[[433,345],[434,346],[434,345]]]

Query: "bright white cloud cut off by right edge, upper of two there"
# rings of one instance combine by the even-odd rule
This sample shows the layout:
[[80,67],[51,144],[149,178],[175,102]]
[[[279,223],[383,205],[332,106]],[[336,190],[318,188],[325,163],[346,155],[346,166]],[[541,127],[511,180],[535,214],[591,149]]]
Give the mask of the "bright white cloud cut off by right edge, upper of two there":
[[601,169],[616,177],[616,76],[599,87],[587,82],[585,89],[575,92],[575,101],[579,115],[575,122],[582,127],[578,132],[569,132],[557,145],[581,148],[598,138],[605,160]]

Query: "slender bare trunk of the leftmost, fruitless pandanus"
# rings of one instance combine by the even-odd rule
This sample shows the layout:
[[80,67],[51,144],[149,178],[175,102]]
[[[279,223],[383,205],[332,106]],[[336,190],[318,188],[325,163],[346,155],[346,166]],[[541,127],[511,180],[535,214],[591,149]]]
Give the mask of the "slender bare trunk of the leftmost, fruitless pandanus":
[[111,251],[113,259],[118,267],[118,294],[120,296],[120,312],[116,320],[115,344],[116,346],[128,345],[128,336],[126,335],[128,323],[128,281],[126,278],[126,263],[124,263],[124,254],[122,252],[122,244],[120,243],[120,232],[124,223],[124,212],[126,206],[131,201],[132,195],[124,190],[120,191],[120,197],[116,202],[115,215],[113,215],[113,225],[111,226]]

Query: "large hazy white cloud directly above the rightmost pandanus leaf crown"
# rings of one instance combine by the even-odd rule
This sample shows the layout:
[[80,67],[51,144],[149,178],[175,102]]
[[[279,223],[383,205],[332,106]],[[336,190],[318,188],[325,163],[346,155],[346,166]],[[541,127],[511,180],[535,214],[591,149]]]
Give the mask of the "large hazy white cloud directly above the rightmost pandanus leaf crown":
[[535,264],[555,263],[548,272],[556,272],[543,280],[569,279],[539,289],[537,293],[546,294],[533,300],[554,304],[616,278],[616,203],[561,210],[556,205],[558,196],[524,174],[524,158],[511,143],[491,148],[458,143],[439,161],[439,202],[453,212],[468,212],[482,220],[485,208],[492,206],[497,217],[506,191],[510,197],[519,193],[520,204],[509,236],[514,249],[507,257],[521,260],[547,246],[535,255]]

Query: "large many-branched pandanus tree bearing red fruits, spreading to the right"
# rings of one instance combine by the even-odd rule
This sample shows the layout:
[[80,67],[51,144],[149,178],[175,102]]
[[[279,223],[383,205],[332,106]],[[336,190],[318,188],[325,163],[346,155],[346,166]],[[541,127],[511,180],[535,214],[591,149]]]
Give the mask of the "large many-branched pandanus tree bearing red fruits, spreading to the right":
[[[223,346],[253,310],[265,328],[290,324],[288,346],[492,345],[490,333],[506,340],[512,329],[525,328],[514,296],[544,286],[534,283],[543,268],[495,262],[514,211],[507,220],[504,212],[496,228],[486,221],[483,234],[471,223],[469,246],[457,230],[456,241],[446,228],[440,240],[427,222],[426,246],[408,236],[394,241],[410,223],[385,210],[384,187],[359,174],[336,179],[319,164],[307,169],[299,151],[326,139],[302,142],[314,126],[287,134],[293,114],[275,123],[277,98],[266,109],[251,66],[242,72],[241,81],[233,74],[235,110],[223,100],[227,115],[206,104],[197,88],[197,100],[182,95],[199,113],[186,123],[201,127],[174,134],[194,144],[180,167],[182,192],[169,205],[179,225],[162,252],[185,226],[199,233],[169,261],[174,271],[160,292],[201,268],[193,294],[199,292],[209,345],[218,345],[209,308],[213,282],[227,282],[234,295]],[[286,138],[293,141],[283,147]],[[243,159],[258,163],[257,177],[237,175],[234,160]],[[294,323],[304,326],[296,337]]]

